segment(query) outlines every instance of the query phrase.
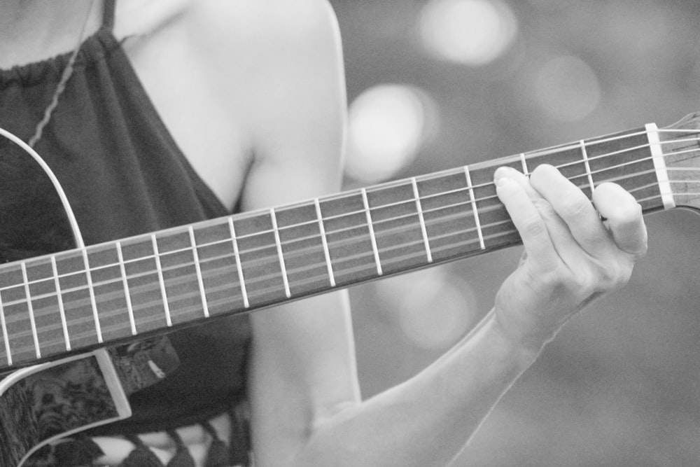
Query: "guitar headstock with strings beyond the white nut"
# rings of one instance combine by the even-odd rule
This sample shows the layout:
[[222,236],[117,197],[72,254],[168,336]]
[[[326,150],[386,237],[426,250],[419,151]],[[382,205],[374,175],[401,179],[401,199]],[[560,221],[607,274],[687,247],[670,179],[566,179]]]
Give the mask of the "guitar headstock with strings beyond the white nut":
[[676,206],[700,210],[700,112],[660,129],[659,140]]

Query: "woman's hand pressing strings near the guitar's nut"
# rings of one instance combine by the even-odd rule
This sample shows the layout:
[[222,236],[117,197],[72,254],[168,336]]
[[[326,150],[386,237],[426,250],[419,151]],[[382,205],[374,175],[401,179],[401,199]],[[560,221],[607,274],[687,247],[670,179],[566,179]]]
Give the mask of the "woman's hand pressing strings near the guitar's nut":
[[501,167],[495,181],[525,247],[496,295],[496,318],[536,354],[584,305],[629,281],[647,249],[642,210],[615,183],[596,187],[591,203],[551,165],[529,179]]

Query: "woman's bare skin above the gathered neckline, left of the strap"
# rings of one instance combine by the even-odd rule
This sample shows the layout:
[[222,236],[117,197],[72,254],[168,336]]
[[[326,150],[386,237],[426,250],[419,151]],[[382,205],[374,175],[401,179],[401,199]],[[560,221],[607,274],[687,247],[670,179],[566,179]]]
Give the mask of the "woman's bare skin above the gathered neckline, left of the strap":
[[101,0],[1,0],[0,69],[69,52],[86,21],[86,35],[99,29]]

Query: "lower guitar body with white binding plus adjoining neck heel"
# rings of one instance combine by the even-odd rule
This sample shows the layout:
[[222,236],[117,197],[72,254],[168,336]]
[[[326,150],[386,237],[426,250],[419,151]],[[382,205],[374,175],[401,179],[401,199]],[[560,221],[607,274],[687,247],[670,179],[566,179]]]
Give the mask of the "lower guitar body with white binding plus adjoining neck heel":
[[177,365],[164,335],[1,375],[0,466],[50,459],[48,446],[62,438],[130,417],[128,396]]

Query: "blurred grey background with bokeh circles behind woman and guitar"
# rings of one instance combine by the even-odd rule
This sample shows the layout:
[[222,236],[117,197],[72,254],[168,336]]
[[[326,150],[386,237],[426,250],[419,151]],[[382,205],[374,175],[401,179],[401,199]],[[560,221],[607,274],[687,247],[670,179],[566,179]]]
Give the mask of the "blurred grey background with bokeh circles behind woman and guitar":
[[[346,188],[700,111],[698,0],[332,4],[350,104]],[[650,252],[631,284],[564,328],[456,465],[700,465],[700,216],[646,220]],[[449,349],[520,253],[353,288],[364,396]]]

